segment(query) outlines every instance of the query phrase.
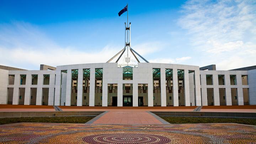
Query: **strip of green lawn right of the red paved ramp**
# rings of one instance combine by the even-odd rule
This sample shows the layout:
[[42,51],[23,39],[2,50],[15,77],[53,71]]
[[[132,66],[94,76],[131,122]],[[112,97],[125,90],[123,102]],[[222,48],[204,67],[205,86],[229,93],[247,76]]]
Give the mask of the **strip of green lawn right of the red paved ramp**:
[[256,119],[250,118],[208,118],[208,117],[161,117],[173,124],[181,123],[240,123],[256,126]]

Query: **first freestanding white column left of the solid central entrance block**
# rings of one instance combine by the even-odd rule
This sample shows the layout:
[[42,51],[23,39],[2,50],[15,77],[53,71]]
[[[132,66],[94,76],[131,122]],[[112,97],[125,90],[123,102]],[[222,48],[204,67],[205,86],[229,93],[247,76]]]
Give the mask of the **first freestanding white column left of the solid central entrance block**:
[[94,106],[95,103],[95,68],[90,69],[90,93],[89,106]]

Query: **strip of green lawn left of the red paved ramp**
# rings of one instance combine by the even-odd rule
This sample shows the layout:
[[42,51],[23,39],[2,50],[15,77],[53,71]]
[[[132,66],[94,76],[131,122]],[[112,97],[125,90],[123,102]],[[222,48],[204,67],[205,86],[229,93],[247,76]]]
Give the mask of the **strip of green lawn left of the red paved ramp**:
[[36,122],[36,123],[86,123],[94,117],[19,117],[0,118],[0,124]]

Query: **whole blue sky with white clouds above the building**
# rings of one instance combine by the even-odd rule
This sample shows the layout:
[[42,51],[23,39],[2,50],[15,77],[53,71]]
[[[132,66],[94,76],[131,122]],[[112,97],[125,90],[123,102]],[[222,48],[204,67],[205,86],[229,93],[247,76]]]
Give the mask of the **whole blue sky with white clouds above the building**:
[[124,45],[154,63],[256,65],[255,1],[0,1],[0,65],[104,63]]

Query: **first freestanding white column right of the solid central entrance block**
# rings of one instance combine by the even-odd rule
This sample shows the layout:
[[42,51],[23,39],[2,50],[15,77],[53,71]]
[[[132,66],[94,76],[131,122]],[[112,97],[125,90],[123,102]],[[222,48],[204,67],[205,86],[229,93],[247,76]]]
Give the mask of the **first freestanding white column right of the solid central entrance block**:
[[160,82],[161,82],[161,106],[166,107],[166,84],[165,84],[165,68],[160,70]]

